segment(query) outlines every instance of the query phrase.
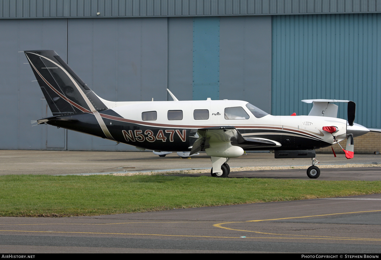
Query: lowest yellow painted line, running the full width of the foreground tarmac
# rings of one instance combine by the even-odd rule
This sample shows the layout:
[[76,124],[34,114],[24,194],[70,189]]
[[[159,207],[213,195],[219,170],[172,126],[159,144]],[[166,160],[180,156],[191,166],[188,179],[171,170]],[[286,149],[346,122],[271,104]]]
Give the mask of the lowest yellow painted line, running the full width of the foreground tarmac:
[[[198,238],[240,238],[238,236],[191,236],[191,235],[163,235],[163,234],[139,234],[139,233],[103,233],[103,232],[69,232],[69,231],[30,231],[30,230],[0,230],[10,232],[37,232],[37,233],[80,233],[80,234],[102,234],[102,235],[142,235],[142,236],[181,236],[181,237],[198,237]],[[381,239],[369,238],[277,238],[277,237],[247,237],[254,239],[334,239],[334,240],[357,240],[357,241],[381,241]]]

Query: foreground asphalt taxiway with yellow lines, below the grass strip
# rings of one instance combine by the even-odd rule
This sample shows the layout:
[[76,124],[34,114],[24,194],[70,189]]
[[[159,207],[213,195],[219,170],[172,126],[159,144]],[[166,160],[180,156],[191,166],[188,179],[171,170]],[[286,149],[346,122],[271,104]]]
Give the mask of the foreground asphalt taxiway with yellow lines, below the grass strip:
[[0,219],[0,252],[380,253],[381,194]]

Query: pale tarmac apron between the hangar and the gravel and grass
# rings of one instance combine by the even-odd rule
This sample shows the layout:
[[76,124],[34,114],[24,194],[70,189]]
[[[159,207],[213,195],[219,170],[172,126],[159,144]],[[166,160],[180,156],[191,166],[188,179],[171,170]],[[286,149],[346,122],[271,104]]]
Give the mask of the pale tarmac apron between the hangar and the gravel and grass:
[[[347,160],[344,154],[317,154],[320,164],[378,163],[381,155],[356,154]],[[311,159],[274,159],[274,154],[248,153],[229,160],[230,167],[311,165]],[[0,150],[0,175],[6,174],[78,174],[115,171],[144,171],[211,167],[205,153],[181,159],[176,153],[158,157],[152,152],[112,151],[33,151]],[[307,170],[307,169],[306,169]],[[305,173],[304,173],[305,174]]]

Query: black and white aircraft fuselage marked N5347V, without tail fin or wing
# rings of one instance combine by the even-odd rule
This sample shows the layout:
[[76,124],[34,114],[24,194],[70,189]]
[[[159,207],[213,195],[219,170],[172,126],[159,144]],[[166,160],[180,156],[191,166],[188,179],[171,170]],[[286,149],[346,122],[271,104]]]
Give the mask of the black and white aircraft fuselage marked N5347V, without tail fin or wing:
[[[99,111],[99,115],[114,138],[113,141],[155,151],[190,151],[190,147],[198,137],[197,129],[221,125],[234,126],[245,137],[264,138],[279,143],[276,146],[255,148],[243,146],[242,148],[247,151],[306,150],[336,143],[330,133],[322,131],[323,126],[335,126],[338,129],[335,133],[337,141],[346,138],[347,121],[344,119],[270,114],[257,118],[247,108],[248,102],[240,100],[102,101],[108,109]],[[243,108],[248,118],[227,119],[226,108]],[[195,110],[203,111],[205,115],[207,113],[208,118],[195,119]],[[172,113],[171,111],[175,111],[173,118],[168,114]],[[143,113],[147,112],[156,114],[156,118],[144,118]],[[110,139],[104,134],[99,121],[91,111],[67,114],[59,118],[64,120],[48,120],[47,123]]]

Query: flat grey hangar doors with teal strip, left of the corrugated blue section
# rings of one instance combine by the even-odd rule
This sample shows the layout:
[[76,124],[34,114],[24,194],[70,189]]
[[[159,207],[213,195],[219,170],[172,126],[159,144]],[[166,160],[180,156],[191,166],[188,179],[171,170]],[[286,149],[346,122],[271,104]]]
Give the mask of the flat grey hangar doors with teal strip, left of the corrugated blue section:
[[[215,27],[210,41],[205,35]],[[270,16],[0,19],[0,32],[6,122],[0,149],[135,150],[50,125],[32,126],[32,120],[51,114],[19,52],[31,49],[54,49],[106,100],[171,100],[168,88],[179,100],[214,94],[271,112]],[[212,68],[205,68],[205,60]]]

